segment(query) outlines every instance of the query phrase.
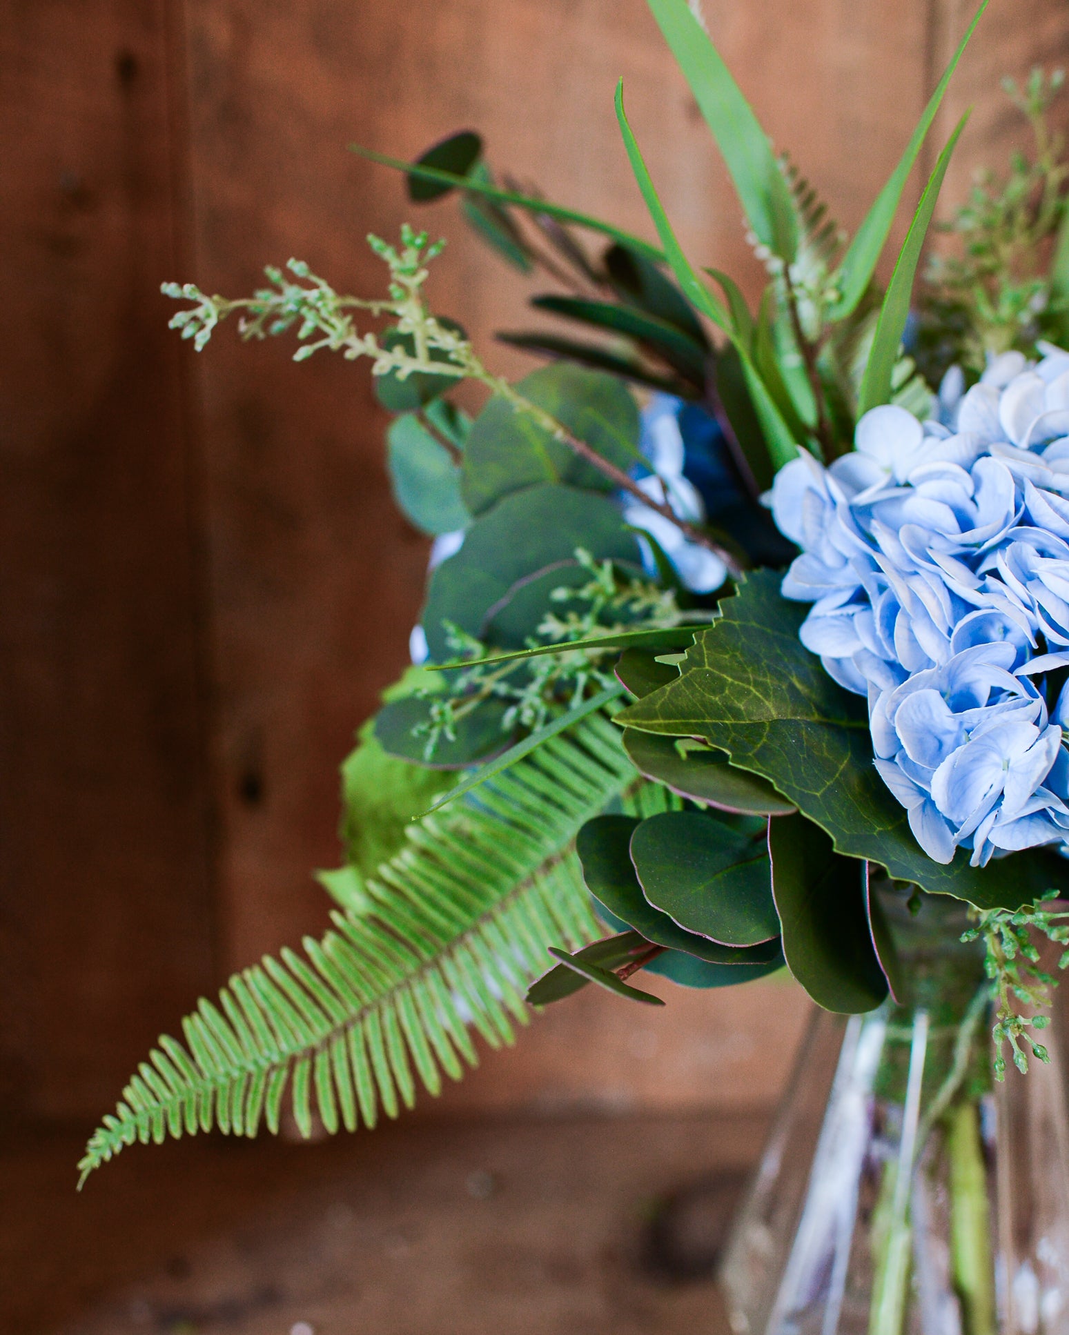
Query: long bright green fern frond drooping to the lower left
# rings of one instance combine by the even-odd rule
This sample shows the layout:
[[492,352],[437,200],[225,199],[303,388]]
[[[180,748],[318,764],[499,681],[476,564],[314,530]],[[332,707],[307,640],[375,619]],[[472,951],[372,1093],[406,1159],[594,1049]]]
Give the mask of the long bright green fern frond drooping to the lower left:
[[[476,1064],[526,1024],[527,985],[546,948],[602,934],[574,852],[579,828],[611,802],[665,802],[639,780],[601,714],[551,738],[511,769],[410,828],[406,846],[368,878],[359,912],[304,953],[244,969],[218,1004],[161,1037],[104,1117],[80,1163],[84,1177],[135,1140],[219,1131],[278,1132],[290,1091],[294,1120],[374,1127],[411,1107],[416,1077]],[[650,789],[643,792],[643,789]]]

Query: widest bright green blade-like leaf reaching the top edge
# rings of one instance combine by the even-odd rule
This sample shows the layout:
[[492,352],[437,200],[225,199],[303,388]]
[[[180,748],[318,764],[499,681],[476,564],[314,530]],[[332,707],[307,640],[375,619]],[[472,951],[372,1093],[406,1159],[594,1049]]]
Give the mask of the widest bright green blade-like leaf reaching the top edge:
[[727,163],[750,227],[790,263],[798,228],[769,136],[686,0],[649,0],[649,5]]

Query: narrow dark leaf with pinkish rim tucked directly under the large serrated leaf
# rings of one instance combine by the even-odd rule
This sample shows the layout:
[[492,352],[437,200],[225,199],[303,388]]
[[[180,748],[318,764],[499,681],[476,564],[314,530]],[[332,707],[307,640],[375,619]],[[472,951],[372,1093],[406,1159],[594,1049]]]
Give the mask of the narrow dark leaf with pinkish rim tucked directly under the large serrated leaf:
[[[626,654],[625,654],[626,657]],[[617,676],[621,676],[619,668]],[[674,672],[674,677],[678,673]],[[631,684],[621,677],[631,690]],[[634,694],[641,694],[634,692]],[[797,808],[781,797],[773,785],[758,774],[735,769],[727,753],[715,749],[681,752],[677,738],[625,728],[623,749],[635,769],[646,778],[665,784],[681,797],[709,802],[722,812],[745,816],[789,816]]]

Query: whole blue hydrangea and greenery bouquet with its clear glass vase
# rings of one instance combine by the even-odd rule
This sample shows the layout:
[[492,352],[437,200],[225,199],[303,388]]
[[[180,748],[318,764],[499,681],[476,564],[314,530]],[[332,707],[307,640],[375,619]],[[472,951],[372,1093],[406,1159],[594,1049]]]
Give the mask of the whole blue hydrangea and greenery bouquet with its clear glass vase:
[[[334,929],[161,1039],[83,1172],[135,1140],[276,1131],[284,1105],[306,1135],[374,1127],[528,1003],[661,1005],[643,972],[786,967],[821,1009],[726,1256],[734,1327],[1061,1330],[1069,1121],[1038,1033],[1041,945],[1069,941],[1060,76],[1010,89],[1036,156],[976,187],[960,258],[918,280],[958,124],[883,288],[982,8],[849,240],[698,11],[650,8],[766,264],[755,310],[683,254],[621,88],[657,244],[499,183],[470,131],[415,163],[360,150],[554,282],[534,306],[567,331],[503,335],[549,358],[519,382],[431,311],[440,243],[410,227],[370,239],[384,296],[294,260],[251,298],[165,287],[198,348],[236,316],[295,332],[298,359],[367,358],[434,546],[414,666],[346,764]],[[1048,1069],[1004,1083],[1006,1052]]]

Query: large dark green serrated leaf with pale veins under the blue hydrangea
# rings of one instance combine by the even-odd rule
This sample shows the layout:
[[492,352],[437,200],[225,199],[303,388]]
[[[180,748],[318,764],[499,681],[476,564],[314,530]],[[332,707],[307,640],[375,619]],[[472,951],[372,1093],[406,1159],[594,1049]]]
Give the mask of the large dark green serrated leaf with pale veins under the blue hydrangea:
[[617,714],[625,728],[703,737],[731,764],[761,774],[834,840],[839,853],[878,862],[896,880],[978,908],[1012,908],[1048,889],[1069,893],[1069,862],[1041,849],[1013,854],[1013,876],[946,866],[914,840],[906,812],[873,766],[865,701],[835,685],[798,639],[806,607],[779,594],[781,575],[747,575],[721,618],[699,631],[679,680]]

